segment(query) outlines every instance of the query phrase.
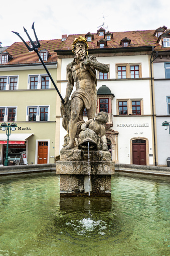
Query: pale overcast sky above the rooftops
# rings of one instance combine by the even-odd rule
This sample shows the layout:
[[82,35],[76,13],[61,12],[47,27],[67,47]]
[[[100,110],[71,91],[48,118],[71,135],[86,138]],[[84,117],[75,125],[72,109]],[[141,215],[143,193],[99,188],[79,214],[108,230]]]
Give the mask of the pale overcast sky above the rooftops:
[[62,34],[96,33],[105,16],[106,31],[132,31],[157,29],[163,25],[170,29],[170,0],[4,0],[0,13],[0,41],[10,46],[26,40],[23,26],[34,39],[59,39]]

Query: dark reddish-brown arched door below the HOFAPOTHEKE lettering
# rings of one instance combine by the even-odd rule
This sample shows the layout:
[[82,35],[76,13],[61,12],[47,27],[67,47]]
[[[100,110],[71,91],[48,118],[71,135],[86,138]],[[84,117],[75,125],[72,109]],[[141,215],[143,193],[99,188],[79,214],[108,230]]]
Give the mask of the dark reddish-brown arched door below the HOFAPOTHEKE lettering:
[[132,164],[146,165],[146,141],[132,140]]

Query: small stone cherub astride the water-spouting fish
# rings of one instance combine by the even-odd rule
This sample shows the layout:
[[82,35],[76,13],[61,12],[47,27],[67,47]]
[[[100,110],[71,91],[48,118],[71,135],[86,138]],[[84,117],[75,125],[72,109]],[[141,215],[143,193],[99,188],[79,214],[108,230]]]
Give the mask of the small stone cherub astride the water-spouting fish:
[[100,139],[99,139],[99,143],[98,143],[98,149],[101,150],[108,150],[107,148],[107,139],[106,139],[106,129],[104,127],[104,125],[107,123],[108,121],[108,115],[106,112],[99,112],[96,116],[95,116],[95,120],[94,119],[90,119],[88,121],[86,121],[84,124],[82,124],[81,129],[83,131],[87,130],[87,128],[93,130],[97,135],[100,135]]

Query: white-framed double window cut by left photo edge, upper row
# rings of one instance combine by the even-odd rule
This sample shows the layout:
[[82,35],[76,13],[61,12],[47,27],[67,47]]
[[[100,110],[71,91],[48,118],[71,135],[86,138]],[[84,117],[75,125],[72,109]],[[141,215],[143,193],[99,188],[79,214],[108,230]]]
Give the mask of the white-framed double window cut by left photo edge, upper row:
[[0,77],[0,91],[18,90],[19,76]]

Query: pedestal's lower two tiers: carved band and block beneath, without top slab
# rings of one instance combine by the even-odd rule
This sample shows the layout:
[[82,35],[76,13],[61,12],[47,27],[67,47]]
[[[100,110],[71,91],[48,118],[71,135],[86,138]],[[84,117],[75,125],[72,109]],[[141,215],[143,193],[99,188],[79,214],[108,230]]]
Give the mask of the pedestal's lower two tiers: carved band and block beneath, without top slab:
[[112,161],[57,161],[56,174],[60,175],[60,196],[111,197]]

